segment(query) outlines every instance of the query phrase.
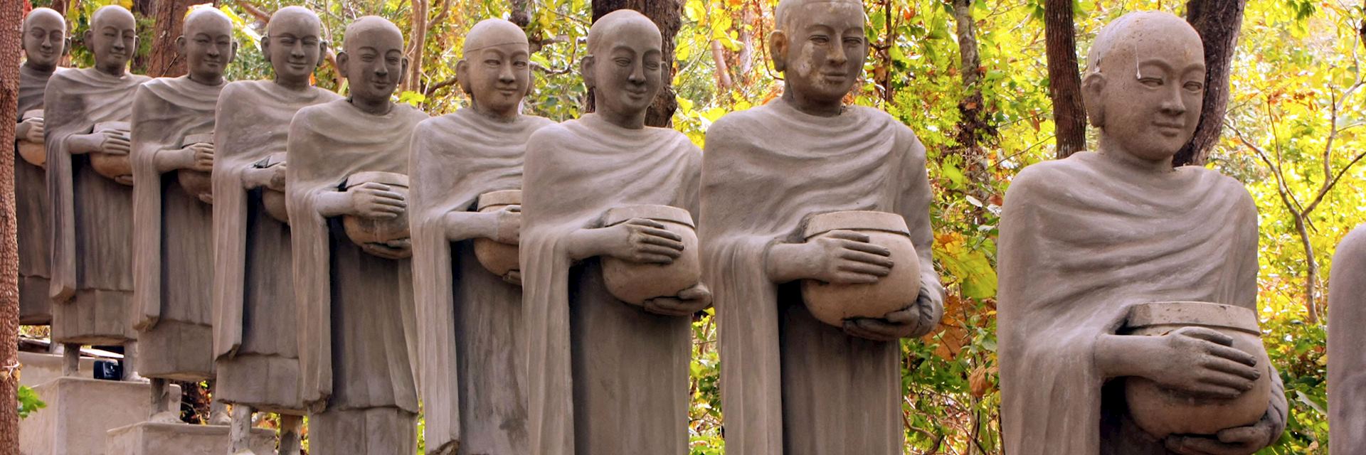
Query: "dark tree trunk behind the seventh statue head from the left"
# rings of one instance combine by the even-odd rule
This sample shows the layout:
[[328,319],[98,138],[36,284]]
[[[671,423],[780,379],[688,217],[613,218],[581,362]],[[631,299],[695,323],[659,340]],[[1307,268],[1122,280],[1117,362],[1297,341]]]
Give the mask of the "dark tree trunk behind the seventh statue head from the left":
[[[660,96],[654,98],[649,112],[645,113],[645,124],[668,127],[673,124],[673,111],[679,108],[673,94],[673,37],[683,26],[679,3],[676,0],[593,0],[593,22],[616,10],[635,10],[645,14],[664,36],[664,89],[660,90]],[[593,112],[593,90],[589,90],[583,113]]]

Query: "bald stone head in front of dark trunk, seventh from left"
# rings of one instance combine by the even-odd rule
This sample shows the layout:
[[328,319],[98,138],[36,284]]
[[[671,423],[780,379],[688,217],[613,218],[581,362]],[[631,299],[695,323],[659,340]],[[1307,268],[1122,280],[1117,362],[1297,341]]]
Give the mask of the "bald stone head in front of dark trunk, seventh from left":
[[664,86],[664,38],[643,14],[612,11],[589,27],[583,82],[597,113],[627,128],[645,126],[645,112]]

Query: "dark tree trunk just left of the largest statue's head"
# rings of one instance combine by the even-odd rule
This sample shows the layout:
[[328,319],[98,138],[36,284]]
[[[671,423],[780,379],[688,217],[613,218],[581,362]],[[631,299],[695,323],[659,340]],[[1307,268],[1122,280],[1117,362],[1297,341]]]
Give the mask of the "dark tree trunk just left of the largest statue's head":
[[1057,157],[1065,158],[1086,148],[1086,107],[1082,105],[1082,77],[1076,68],[1072,0],[1044,0],[1044,31]]

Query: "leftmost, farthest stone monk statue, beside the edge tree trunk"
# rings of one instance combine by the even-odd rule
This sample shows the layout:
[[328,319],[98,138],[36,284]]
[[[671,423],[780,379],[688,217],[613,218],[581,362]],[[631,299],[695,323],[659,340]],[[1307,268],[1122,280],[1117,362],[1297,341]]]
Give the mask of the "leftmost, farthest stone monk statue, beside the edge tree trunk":
[[[16,141],[42,146],[42,116],[25,113],[42,111],[42,92],[57,71],[67,51],[67,20],[51,8],[34,8],[23,19],[23,64],[19,66],[19,119]],[[19,234],[19,324],[51,324],[52,299],[48,297],[52,272],[48,236],[48,176],[44,167],[19,157],[15,149],[14,187]]]

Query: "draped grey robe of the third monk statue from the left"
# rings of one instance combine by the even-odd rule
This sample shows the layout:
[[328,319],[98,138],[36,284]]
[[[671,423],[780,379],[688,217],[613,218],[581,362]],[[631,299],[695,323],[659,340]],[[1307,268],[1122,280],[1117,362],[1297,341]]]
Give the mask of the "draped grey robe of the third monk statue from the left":
[[156,158],[213,133],[224,85],[157,78],[133,102],[133,297],[146,377],[213,377],[213,208],[180,187],[176,171],[157,171]]

